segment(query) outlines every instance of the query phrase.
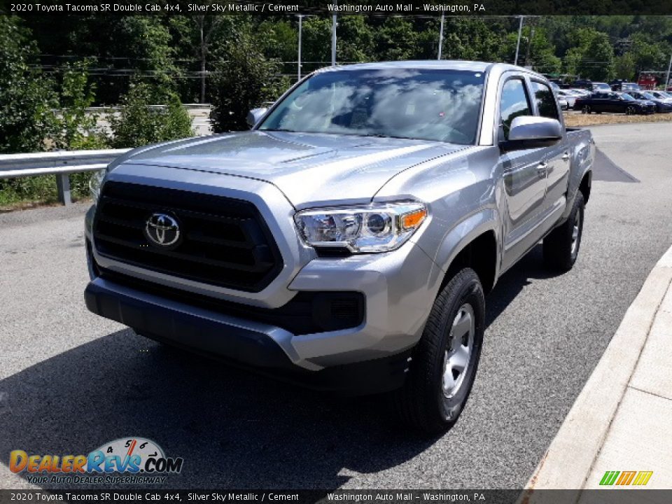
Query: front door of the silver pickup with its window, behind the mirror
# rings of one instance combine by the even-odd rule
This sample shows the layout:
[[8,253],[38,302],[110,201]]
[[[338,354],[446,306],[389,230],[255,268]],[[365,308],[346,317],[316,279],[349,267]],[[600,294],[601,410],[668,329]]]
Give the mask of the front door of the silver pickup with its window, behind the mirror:
[[[511,123],[518,116],[533,116],[526,80],[514,74],[500,84],[498,113],[499,140],[507,140]],[[546,196],[546,167],[543,148],[503,152],[499,167],[503,174],[507,215],[503,216],[505,270],[526,253],[538,240],[533,231],[538,228]]]

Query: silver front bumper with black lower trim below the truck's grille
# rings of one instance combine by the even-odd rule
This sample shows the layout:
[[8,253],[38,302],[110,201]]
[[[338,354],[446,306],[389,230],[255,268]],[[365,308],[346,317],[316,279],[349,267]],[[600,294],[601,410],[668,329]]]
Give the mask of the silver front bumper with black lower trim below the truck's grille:
[[[240,311],[232,316],[225,309],[174,300],[99,276],[90,241],[92,211],[87,215],[92,281],[85,290],[90,311],[152,339],[298,378],[315,388],[354,386],[370,392],[399,386],[442,277],[433,260],[410,241],[390,253],[314,258],[280,288],[290,299],[305,291],[362,293],[365,317],[356,327],[297,335],[241,316]],[[246,299],[237,302],[244,304]]]

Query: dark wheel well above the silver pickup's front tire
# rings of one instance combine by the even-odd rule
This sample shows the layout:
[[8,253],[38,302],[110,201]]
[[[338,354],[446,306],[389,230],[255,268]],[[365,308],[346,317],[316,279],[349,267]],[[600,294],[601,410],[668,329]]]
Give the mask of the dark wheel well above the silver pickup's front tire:
[[461,269],[473,269],[483,286],[484,293],[489,293],[495,283],[495,267],[497,262],[497,240],[493,231],[486,231],[465,246],[450,263],[444,276],[441,289]]

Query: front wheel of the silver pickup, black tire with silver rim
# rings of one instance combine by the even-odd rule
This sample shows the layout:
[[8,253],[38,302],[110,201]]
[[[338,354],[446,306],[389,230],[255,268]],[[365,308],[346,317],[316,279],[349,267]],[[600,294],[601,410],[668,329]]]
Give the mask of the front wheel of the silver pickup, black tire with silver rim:
[[437,296],[409,376],[395,393],[402,420],[432,435],[454,425],[474,383],[484,325],[481,282],[473,269],[464,268]]

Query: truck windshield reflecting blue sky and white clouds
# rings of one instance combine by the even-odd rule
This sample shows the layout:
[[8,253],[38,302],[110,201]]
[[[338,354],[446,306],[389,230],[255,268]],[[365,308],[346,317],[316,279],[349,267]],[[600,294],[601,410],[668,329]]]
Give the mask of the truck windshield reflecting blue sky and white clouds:
[[484,73],[377,69],[316,73],[258,128],[474,144]]

